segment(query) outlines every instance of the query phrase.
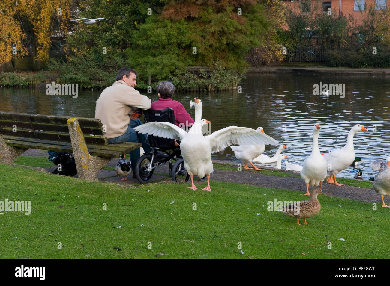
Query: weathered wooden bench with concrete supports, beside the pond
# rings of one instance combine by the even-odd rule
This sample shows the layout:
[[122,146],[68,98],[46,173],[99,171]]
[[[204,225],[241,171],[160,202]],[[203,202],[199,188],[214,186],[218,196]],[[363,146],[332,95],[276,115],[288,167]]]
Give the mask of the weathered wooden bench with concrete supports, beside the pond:
[[28,148],[73,152],[78,177],[97,181],[97,172],[112,158],[140,143],[108,144],[100,119],[0,111],[0,163],[14,164]]

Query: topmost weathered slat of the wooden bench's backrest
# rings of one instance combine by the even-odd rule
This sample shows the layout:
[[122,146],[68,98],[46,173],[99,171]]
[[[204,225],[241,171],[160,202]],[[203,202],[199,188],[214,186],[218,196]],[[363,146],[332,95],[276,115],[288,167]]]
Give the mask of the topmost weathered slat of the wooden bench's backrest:
[[95,119],[95,118],[54,116],[54,115],[45,115],[45,114],[28,114],[28,113],[0,111],[0,119],[29,122],[29,118],[31,119],[32,122],[63,124],[63,125],[67,125],[67,120],[69,118],[77,118],[78,122],[80,123],[80,126],[83,127],[103,126],[100,119]]

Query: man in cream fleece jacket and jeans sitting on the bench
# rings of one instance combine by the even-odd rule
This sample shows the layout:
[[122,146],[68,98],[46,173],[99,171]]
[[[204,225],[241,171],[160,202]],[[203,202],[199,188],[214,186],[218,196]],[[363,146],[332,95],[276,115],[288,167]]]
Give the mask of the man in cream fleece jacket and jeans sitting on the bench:
[[[146,142],[147,136],[135,132],[135,126],[141,125],[140,119],[130,120],[132,107],[150,109],[151,100],[141,95],[134,86],[137,85],[137,72],[131,68],[121,68],[116,81],[101,93],[96,101],[95,118],[101,119],[106,125],[106,137],[109,144],[122,142],[139,142],[145,153],[151,152],[150,145]],[[135,170],[135,164],[140,158],[140,149],[130,152],[131,169]],[[135,174],[133,173],[133,177]]]

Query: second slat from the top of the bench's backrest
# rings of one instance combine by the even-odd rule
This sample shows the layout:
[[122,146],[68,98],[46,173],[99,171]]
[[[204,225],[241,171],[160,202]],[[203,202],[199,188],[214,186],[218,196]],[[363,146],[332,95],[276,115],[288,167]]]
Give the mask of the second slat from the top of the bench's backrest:
[[[30,122],[27,121],[17,121],[17,120],[5,120],[0,119],[0,128],[8,127],[12,128],[12,126],[16,125],[16,128],[23,128],[23,129],[31,129]],[[68,125],[64,124],[51,124],[51,123],[37,123],[33,122],[32,126],[35,130],[44,130],[44,131],[55,131],[55,132],[65,132],[69,133]],[[105,135],[105,132],[103,131],[103,127],[85,127],[80,126],[81,131],[86,135]]]

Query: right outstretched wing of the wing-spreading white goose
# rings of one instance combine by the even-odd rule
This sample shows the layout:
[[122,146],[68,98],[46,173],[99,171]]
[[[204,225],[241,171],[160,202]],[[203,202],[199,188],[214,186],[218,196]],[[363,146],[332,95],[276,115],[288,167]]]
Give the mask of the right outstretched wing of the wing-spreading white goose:
[[210,141],[211,153],[224,150],[234,144],[257,145],[271,144],[279,145],[279,142],[272,137],[254,130],[252,128],[229,126],[205,136]]

